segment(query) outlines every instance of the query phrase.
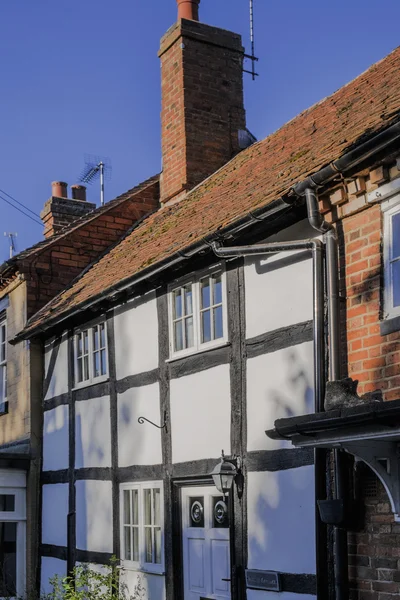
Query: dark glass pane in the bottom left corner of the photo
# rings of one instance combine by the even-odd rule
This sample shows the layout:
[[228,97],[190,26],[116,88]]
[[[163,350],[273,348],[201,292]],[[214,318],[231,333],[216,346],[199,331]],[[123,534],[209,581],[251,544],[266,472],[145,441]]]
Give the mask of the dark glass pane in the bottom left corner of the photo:
[[0,596],[16,596],[17,523],[0,523]]

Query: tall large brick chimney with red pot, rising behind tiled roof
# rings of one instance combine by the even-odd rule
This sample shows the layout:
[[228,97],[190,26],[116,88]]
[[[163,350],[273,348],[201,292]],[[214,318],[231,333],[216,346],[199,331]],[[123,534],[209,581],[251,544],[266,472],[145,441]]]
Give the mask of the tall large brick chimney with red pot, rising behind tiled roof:
[[177,0],[161,40],[161,202],[174,202],[239,152],[245,129],[243,54],[236,33],[198,22],[200,0]]

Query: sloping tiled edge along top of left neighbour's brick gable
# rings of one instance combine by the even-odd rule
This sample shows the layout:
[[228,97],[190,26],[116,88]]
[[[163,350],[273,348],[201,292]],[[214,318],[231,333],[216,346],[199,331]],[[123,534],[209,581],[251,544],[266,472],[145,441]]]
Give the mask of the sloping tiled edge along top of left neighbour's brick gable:
[[106,202],[103,206],[97,206],[96,208],[94,208],[90,212],[86,213],[85,215],[78,217],[72,223],[65,225],[55,235],[53,235],[47,239],[40,240],[40,242],[37,242],[33,246],[30,246],[29,248],[22,250],[21,252],[19,252],[15,256],[13,256],[12,259],[8,259],[7,261],[4,261],[4,263],[2,265],[0,265],[0,273],[2,273],[3,270],[5,270],[5,269],[10,268],[10,266],[12,264],[17,264],[18,260],[28,258],[29,256],[32,256],[33,254],[36,254],[37,252],[41,251],[42,249],[43,250],[47,249],[53,243],[59,242],[63,237],[65,237],[69,233],[72,233],[76,229],[79,229],[79,227],[81,227],[82,225],[86,225],[92,219],[97,218],[98,216],[107,213],[107,211],[115,208],[122,202],[132,199],[132,197],[134,197],[136,194],[138,194],[139,192],[146,189],[146,187],[153,185],[153,183],[155,183],[159,178],[160,178],[159,173],[156,175],[152,175],[151,177],[145,179],[141,183],[138,183],[133,188],[127,190],[126,192],[123,192],[119,196],[116,196],[109,202]]

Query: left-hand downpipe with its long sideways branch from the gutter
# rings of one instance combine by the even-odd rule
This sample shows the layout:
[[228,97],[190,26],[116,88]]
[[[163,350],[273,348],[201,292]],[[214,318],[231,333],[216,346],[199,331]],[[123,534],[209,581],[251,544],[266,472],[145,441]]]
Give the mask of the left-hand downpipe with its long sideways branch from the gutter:
[[[319,214],[319,213],[318,213]],[[320,215],[319,215],[320,216]],[[317,218],[317,216],[316,216]],[[325,344],[324,344],[324,245],[318,239],[308,239],[290,242],[270,242],[252,246],[222,247],[213,242],[211,247],[220,258],[238,258],[256,255],[271,255],[285,251],[309,250],[313,261],[313,340],[314,340],[314,409],[323,411],[325,392]],[[316,499],[325,497],[325,452],[315,450],[315,494]],[[317,597],[325,600],[327,597],[327,538],[326,526],[315,514],[316,532],[316,567],[317,567]]]

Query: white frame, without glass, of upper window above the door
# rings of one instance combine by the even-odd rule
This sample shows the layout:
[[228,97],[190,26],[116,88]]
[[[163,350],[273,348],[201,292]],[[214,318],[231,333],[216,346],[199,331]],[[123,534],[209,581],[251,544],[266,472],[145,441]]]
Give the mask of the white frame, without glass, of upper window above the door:
[[[200,281],[206,277],[214,275],[221,275],[222,283],[222,327],[223,336],[209,342],[201,342],[201,287]],[[182,350],[175,350],[174,348],[174,292],[179,288],[191,284],[193,290],[193,339],[194,344],[190,348],[183,348]],[[183,279],[178,279],[174,283],[168,286],[168,322],[169,322],[169,345],[170,345],[170,359],[181,358],[184,356],[190,356],[199,352],[204,352],[212,348],[224,346],[228,342],[228,303],[227,303],[227,292],[226,292],[226,272],[221,265],[217,267],[214,265],[209,269],[199,271],[198,273],[191,273]]]

